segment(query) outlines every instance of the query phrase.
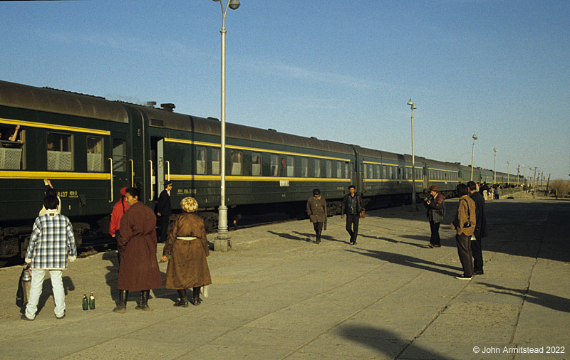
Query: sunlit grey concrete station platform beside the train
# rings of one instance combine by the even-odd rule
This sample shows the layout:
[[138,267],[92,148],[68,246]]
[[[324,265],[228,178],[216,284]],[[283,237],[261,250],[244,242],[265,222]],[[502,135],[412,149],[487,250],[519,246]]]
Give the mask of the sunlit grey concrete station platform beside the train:
[[[446,225],[456,206],[447,201]],[[442,224],[442,248],[428,248],[425,211],[409,208],[370,211],[357,245],[340,216],[320,245],[308,220],[232,231],[232,250],[208,258],[214,284],[197,307],[173,307],[177,293],[162,287],[152,311],[134,309],[135,292],[113,313],[109,251],[63,272],[66,319],[46,280],[24,322],[21,267],[0,269],[0,360],[570,359],[570,201],[489,201],[485,273],[470,281],[455,279],[454,231]],[[81,309],[86,292],[96,309]]]

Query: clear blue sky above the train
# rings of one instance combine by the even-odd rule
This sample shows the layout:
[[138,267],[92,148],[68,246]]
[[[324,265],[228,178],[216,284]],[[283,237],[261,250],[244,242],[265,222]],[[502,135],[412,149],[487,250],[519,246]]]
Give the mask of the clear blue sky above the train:
[[[475,166],[569,178],[570,1],[241,2],[227,121],[410,154],[411,97],[416,155],[470,164],[475,133]],[[219,2],[1,1],[0,23],[1,80],[219,117]]]

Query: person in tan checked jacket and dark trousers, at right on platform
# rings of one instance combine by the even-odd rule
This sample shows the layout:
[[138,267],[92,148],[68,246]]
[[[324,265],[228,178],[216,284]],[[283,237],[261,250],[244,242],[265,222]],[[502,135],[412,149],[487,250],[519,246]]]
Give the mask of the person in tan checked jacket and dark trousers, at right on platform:
[[451,228],[457,231],[457,254],[463,267],[463,274],[456,279],[471,280],[473,277],[473,258],[471,252],[471,235],[475,232],[477,215],[475,213],[475,201],[469,197],[469,190],[465,184],[457,184],[457,195],[460,196],[459,206]]

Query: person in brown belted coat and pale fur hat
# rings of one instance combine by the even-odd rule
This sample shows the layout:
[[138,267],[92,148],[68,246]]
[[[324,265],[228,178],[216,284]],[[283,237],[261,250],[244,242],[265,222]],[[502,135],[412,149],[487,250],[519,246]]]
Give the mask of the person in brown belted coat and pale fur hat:
[[194,213],[198,208],[195,198],[183,198],[180,206],[185,213],[180,214],[172,223],[160,260],[167,261],[171,255],[165,287],[178,291],[180,301],[174,306],[188,307],[186,289],[191,287],[192,304],[197,306],[202,302],[199,297],[200,287],[212,284],[206,260],[209,255],[206,229],[204,220]]

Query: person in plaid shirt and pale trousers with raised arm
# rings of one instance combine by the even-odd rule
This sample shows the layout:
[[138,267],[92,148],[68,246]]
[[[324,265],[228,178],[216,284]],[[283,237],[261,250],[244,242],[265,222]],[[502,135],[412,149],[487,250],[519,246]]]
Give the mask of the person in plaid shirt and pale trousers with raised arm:
[[43,205],[47,211],[36,218],[26,252],[25,261],[31,268],[31,287],[26,313],[21,317],[23,320],[36,318],[46,270],[49,270],[51,277],[56,318],[66,317],[66,293],[63,290],[61,275],[63,269],[67,268],[68,260],[73,261],[77,257],[73,227],[67,216],[58,213],[57,196],[46,196]]

